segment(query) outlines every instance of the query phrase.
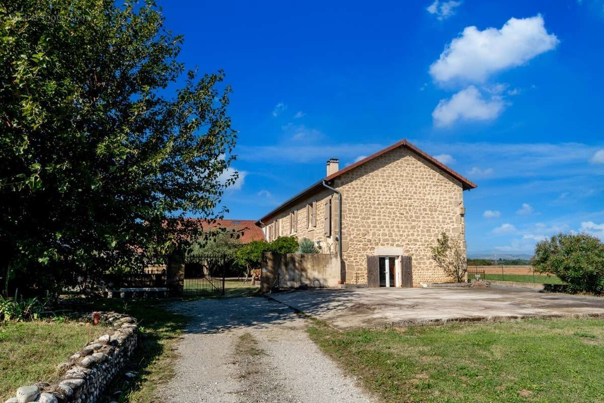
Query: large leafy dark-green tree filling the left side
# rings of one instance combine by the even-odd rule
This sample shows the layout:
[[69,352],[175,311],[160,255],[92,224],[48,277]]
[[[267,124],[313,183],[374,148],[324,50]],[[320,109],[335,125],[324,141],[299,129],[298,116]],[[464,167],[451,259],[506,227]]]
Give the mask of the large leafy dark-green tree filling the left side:
[[179,218],[222,217],[237,178],[222,71],[185,73],[153,2],[118,3],[0,2],[0,263],[32,291],[196,239]]

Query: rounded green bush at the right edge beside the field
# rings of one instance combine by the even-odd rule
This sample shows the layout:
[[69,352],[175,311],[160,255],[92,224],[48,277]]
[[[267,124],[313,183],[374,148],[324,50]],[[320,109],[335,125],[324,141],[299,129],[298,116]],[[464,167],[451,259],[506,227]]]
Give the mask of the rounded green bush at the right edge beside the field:
[[604,292],[604,243],[588,234],[557,234],[537,243],[535,271],[555,274],[568,292]]

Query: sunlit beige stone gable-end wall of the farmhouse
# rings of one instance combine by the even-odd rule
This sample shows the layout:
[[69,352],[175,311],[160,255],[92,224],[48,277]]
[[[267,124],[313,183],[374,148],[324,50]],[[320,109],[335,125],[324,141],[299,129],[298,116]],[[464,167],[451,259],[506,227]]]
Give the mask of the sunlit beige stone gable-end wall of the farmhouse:
[[449,279],[430,257],[443,231],[466,251],[463,190],[443,170],[403,147],[335,179],[342,192],[346,283],[367,283],[367,255],[413,258],[413,286]]

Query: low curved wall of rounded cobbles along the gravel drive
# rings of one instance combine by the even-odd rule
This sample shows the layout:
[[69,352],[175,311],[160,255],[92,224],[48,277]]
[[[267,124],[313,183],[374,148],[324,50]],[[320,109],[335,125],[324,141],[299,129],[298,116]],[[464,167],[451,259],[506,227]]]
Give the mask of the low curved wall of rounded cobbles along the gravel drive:
[[115,312],[101,313],[100,320],[113,329],[59,364],[63,376],[58,384],[37,382],[21,387],[6,403],[96,402],[132,355],[138,328],[134,318]]

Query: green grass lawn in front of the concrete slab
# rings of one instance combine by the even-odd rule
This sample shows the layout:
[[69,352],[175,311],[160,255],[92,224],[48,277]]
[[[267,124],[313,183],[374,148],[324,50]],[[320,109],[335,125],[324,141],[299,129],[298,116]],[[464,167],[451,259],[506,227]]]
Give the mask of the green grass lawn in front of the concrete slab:
[[308,331],[387,402],[604,402],[602,320]]

